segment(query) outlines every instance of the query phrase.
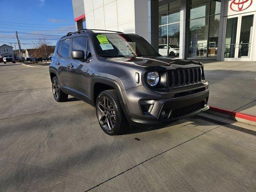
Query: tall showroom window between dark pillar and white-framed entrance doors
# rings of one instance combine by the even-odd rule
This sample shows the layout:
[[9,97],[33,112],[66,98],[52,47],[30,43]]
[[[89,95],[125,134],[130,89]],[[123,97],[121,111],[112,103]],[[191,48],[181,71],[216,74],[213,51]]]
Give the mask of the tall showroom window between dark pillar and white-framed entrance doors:
[[190,0],[188,57],[216,57],[220,1]]

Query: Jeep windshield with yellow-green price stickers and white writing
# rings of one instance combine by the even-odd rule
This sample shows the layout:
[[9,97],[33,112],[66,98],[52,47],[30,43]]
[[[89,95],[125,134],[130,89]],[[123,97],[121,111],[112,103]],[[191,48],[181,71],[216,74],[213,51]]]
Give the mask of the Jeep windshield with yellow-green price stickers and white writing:
[[102,57],[160,56],[146,40],[132,34],[94,34],[94,44]]

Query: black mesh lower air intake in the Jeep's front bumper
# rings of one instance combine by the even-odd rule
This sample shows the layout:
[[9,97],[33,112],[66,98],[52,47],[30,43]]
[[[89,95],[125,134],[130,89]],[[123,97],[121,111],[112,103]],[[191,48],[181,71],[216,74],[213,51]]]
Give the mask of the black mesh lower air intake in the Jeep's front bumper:
[[188,105],[182,108],[178,108],[176,110],[173,111],[172,113],[172,118],[178,118],[178,117],[182,117],[185,116],[187,114],[190,114],[192,112],[196,112],[200,109],[204,108],[204,101],[192,104],[192,105]]

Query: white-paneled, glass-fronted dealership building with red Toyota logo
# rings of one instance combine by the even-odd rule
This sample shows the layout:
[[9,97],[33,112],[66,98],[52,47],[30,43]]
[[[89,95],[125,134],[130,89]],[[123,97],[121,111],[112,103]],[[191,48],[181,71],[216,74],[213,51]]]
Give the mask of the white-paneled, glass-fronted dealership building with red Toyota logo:
[[164,56],[256,61],[256,0],[72,0],[72,4],[77,29],[136,33]]

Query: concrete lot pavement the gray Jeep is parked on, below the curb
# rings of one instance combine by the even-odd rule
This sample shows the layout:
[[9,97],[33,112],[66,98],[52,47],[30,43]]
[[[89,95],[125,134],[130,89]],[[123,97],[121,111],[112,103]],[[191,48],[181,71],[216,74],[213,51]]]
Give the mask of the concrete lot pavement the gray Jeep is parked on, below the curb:
[[0,64],[0,191],[256,191],[256,137],[189,118],[108,136],[47,66]]

